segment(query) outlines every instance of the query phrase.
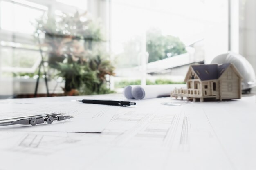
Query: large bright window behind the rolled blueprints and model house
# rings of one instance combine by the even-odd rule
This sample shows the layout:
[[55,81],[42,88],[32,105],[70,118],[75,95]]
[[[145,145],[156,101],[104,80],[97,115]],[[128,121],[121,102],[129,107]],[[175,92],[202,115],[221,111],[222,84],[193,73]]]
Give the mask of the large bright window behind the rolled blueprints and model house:
[[228,50],[227,0],[111,0],[110,13],[115,88],[181,82]]

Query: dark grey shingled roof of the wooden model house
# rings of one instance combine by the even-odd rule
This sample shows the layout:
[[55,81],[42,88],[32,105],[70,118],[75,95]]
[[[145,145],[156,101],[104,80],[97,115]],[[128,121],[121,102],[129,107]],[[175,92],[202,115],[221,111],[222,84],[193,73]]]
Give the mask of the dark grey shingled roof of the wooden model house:
[[[201,81],[205,80],[213,80],[213,79],[218,79],[222,75],[222,73],[225,72],[225,70],[229,66],[233,66],[231,63],[224,63],[224,64],[200,64],[200,65],[191,65],[190,69],[193,69],[195,74],[199,77]],[[235,68],[236,70],[236,68]],[[188,79],[188,74],[187,73],[185,81]],[[238,73],[239,74],[239,73]],[[240,76],[240,74],[239,74]]]

